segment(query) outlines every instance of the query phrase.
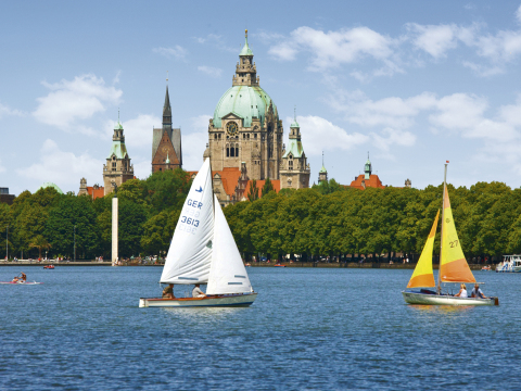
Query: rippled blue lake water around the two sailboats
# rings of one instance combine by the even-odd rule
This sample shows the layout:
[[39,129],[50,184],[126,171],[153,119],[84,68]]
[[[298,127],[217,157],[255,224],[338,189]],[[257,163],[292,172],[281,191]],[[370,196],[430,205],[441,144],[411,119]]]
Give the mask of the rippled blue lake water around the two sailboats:
[[[138,308],[158,267],[0,267],[0,389],[519,390],[521,275],[494,307],[406,305],[412,270],[254,268],[246,308]],[[188,291],[188,289],[187,289]],[[469,290],[470,291],[470,290]]]

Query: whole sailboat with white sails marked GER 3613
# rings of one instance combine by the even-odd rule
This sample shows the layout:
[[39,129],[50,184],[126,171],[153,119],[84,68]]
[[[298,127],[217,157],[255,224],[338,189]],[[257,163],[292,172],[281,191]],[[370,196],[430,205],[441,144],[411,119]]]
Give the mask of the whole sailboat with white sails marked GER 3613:
[[213,193],[209,159],[204,161],[193,179],[160,282],[207,283],[206,295],[141,298],[140,307],[247,306],[257,297],[225,214]]

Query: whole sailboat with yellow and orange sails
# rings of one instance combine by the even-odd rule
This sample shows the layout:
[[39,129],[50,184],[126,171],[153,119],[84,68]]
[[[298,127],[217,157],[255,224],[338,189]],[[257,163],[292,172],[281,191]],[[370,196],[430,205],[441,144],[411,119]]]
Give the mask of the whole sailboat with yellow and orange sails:
[[[407,285],[407,289],[402,291],[402,294],[404,295],[405,301],[409,304],[498,305],[499,301],[497,298],[460,298],[442,292],[442,282],[475,283],[475,278],[465,258],[456,226],[454,224],[446,179],[447,164],[445,164],[445,176],[443,180],[442,242],[437,286],[434,281],[434,274],[432,270],[432,250],[434,248],[434,237],[436,236],[440,211],[437,211],[436,218],[434,219],[434,224],[432,225],[425,245],[421,252],[420,260],[418,261],[415,272]],[[434,287],[436,287],[435,291],[421,289]],[[420,288],[420,290],[412,290],[414,288]]]

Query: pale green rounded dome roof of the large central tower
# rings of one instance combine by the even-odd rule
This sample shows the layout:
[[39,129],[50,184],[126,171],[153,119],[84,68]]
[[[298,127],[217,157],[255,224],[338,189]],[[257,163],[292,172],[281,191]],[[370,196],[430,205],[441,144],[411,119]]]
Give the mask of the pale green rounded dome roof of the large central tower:
[[[223,127],[220,118],[230,113],[243,118],[244,127],[252,126],[252,117],[260,118],[260,123],[264,124],[270,102],[271,98],[260,87],[233,86],[223,94],[215,108],[214,126]],[[278,121],[277,106],[272,104]]]

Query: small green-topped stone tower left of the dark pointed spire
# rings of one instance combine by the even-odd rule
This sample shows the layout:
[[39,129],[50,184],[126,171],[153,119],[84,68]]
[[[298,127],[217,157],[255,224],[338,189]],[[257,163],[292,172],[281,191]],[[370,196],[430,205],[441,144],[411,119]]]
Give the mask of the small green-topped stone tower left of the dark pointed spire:
[[134,179],[134,166],[130,165],[123,125],[118,118],[112,136],[111,153],[106,157],[106,164],[103,164],[104,195],[114,191],[113,184],[119,187],[128,179]]

